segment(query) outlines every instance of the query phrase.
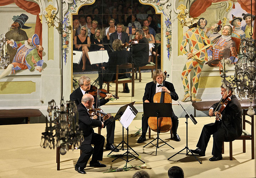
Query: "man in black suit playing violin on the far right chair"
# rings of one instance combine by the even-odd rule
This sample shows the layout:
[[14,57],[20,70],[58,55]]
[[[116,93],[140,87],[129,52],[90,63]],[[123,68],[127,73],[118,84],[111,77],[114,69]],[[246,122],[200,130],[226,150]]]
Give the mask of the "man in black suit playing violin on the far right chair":
[[[228,89],[226,89],[228,88]],[[220,111],[213,111],[217,108],[219,103],[215,103],[211,106],[209,110],[209,115],[215,115],[218,120],[215,123],[206,124],[203,127],[201,132],[199,141],[196,145],[195,150],[191,150],[191,152],[198,154],[200,156],[205,156],[205,150],[207,144],[210,140],[211,135],[213,135],[213,150],[211,154],[213,157],[209,159],[209,161],[218,161],[222,159],[222,142],[230,142],[234,141],[236,138],[242,135],[242,108],[239,100],[235,95],[232,95],[233,90],[231,86],[227,86],[226,88],[221,87],[221,95],[222,100],[226,100],[228,96],[230,96],[231,101],[229,101],[224,108],[224,110],[220,113]]]

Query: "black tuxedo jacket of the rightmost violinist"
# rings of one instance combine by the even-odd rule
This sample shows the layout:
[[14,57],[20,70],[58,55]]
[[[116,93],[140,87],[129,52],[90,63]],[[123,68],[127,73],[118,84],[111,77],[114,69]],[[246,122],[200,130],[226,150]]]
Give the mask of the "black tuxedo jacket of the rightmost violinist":
[[[211,106],[214,110],[219,103]],[[208,125],[217,125],[219,141],[234,141],[242,135],[242,108],[235,95],[231,96],[231,101],[221,112],[221,121],[216,121]]]

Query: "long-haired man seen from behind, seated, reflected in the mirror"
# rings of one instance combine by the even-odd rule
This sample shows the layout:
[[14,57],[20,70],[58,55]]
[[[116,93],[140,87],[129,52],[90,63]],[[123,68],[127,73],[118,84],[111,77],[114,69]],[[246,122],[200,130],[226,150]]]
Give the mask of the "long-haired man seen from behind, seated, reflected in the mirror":
[[[106,70],[103,70],[103,74],[99,74],[99,88],[102,88],[103,82],[110,82],[116,78],[117,65],[132,63],[132,55],[129,51],[126,51],[124,46],[122,45],[121,40],[114,40],[112,47],[114,52],[109,54],[109,59],[107,63],[103,63],[103,67]],[[130,72],[126,69],[120,69],[119,73]],[[130,74],[118,74],[118,79],[129,78]],[[124,93],[130,93],[128,88],[128,84],[125,83]]]

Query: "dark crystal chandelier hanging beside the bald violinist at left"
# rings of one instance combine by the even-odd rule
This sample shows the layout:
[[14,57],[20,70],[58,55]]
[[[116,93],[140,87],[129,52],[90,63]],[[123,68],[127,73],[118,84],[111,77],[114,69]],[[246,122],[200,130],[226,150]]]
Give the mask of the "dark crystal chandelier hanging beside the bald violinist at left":
[[50,123],[48,123],[46,117],[46,128],[45,132],[42,133],[40,146],[54,149],[56,145],[56,147],[60,147],[61,155],[66,154],[69,145],[71,145],[72,151],[79,148],[84,138],[83,131],[79,129],[75,102],[67,101],[65,107],[62,99],[60,108],[58,108],[55,101],[51,100],[48,102],[47,112],[49,113]]

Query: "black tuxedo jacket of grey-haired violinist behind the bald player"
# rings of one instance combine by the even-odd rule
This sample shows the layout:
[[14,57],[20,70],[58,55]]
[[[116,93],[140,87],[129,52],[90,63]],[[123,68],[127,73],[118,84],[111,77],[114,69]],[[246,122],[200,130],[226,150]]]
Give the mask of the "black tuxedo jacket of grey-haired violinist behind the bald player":
[[[70,94],[70,100],[71,100],[71,101],[75,101],[75,103],[76,103],[77,106],[78,106],[78,104],[81,103],[82,97],[83,97],[83,93],[82,93],[80,87],[78,87],[75,91],[73,91],[73,92]],[[96,96],[93,96],[93,98],[94,98],[94,101],[95,101],[95,103],[93,104],[93,106],[94,106],[94,108],[97,108],[97,107],[99,106],[99,105],[96,106],[97,97],[96,97]],[[104,98],[101,98],[101,99],[99,100],[99,104],[102,106],[102,105],[108,103],[108,101],[109,101],[108,99],[105,100]]]

